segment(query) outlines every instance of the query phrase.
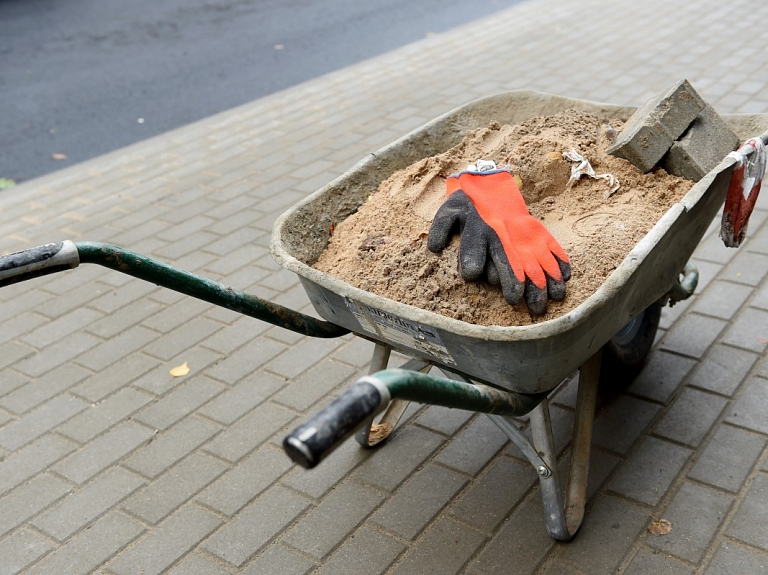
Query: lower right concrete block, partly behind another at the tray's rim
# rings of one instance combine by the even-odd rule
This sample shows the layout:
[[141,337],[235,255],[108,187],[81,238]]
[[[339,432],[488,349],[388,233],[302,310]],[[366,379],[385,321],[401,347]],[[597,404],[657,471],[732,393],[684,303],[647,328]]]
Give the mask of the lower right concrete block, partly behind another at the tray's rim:
[[712,106],[706,105],[669,148],[664,158],[664,169],[672,175],[698,182],[738,144],[738,136]]

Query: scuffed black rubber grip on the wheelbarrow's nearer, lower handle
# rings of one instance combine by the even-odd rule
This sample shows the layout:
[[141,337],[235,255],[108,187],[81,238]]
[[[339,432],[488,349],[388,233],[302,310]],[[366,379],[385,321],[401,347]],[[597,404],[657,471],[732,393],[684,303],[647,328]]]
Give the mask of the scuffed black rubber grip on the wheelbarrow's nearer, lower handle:
[[[389,399],[387,398],[387,402]],[[311,469],[352,435],[385,403],[372,383],[358,381],[344,394],[283,440],[283,449],[293,461]]]

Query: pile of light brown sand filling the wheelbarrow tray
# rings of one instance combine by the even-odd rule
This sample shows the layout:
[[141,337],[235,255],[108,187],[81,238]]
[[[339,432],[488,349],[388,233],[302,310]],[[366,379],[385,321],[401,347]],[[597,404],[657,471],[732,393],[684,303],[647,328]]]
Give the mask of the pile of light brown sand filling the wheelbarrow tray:
[[[497,123],[469,132],[449,151],[395,173],[333,230],[314,267],[360,289],[478,325],[528,325],[553,319],[587,299],[632,247],[691,188],[661,169],[642,174],[605,153],[620,128],[569,110],[516,126]],[[609,196],[603,179],[567,186],[575,149],[620,189]],[[441,254],[427,250],[435,212],[445,201],[445,178],[478,159],[509,166],[522,183],[531,214],[571,258],[572,276],[561,302],[532,317],[524,303],[510,306],[497,286],[464,282],[457,271],[459,238]]]

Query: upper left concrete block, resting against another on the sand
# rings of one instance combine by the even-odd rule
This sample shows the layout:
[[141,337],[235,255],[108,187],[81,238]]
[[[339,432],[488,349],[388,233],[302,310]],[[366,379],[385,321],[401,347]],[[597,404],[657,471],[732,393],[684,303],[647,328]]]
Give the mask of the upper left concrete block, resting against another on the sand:
[[627,121],[606,150],[647,172],[691,125],[706,106],[688,80],[648,100]]

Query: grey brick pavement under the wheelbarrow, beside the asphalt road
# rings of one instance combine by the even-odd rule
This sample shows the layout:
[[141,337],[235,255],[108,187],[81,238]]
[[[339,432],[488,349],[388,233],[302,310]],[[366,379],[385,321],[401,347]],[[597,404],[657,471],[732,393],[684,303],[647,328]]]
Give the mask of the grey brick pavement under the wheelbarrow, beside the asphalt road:
[[[108,242],[311,313],[272,224],[369,152],[518,88],[638,105],[688,78],[721,113],[768,112],[765,21],[746,0],[529,0],[2,192],[0,252]],[[411,406],[382,449],[292,466],[282,437],[366,372],[362,339],[88,266],[3,288],[0,573],[768,573],[767,217],[764,197],[739,250],[713,225],[694,254],[697,295],[598,415],[567,544],[484,416]],[[573,384],[553,406],[570,425]]]

